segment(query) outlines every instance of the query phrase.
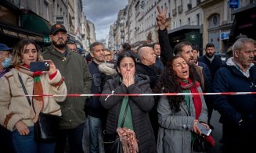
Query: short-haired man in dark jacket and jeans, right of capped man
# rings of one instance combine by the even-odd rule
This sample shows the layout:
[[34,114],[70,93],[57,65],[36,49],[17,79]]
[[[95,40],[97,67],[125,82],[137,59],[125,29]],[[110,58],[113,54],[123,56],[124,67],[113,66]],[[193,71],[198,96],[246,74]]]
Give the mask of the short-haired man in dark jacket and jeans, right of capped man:
[[[92,62],[88,63],[88,69],[92,75],[92,94],[101,94],[103,91],[103,73],[99,71],[99,64],[104,62],[104,46],[101,42],[94,42],[90,46]],[[86,102],[88,113],[88,130],[90,140],[90,153],[99,152],[99,135],[101,134],[106,110],[99,101],[99,97],[91,97]]]

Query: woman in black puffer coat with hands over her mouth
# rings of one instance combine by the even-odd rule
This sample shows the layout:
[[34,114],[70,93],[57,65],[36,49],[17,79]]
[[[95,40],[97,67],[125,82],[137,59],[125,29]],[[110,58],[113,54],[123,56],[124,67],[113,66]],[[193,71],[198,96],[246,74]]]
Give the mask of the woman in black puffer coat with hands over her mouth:
[[[150,79],[146,75],[135,74],[135,57],[128,52],[121,53],[117,59],[117,75],[107,80],[102,94],[152,94]],[[153,108],[153,96],[101,96],[100,101],[108,115],[106,134],[117,133],[121,126],[124,109],[128,110],[124,126],[135,132],[139,152],[157,152],[149,114]],[[105,148],[106,152],[108,148]]]

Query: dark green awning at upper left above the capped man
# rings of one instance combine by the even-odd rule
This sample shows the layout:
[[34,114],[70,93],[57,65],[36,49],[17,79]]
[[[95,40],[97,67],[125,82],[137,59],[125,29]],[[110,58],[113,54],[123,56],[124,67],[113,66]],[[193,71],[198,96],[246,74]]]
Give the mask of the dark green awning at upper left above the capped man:
[[23,10],[20,15],[20,27],[34,33],[49,35],[51,24],[30,10]]

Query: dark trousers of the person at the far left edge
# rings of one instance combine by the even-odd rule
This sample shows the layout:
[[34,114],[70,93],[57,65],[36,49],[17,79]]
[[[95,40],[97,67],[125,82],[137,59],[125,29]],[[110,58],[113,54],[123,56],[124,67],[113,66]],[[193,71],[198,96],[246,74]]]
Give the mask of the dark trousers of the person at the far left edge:
[[0,152],[13,153],[13,133],[0,125]]

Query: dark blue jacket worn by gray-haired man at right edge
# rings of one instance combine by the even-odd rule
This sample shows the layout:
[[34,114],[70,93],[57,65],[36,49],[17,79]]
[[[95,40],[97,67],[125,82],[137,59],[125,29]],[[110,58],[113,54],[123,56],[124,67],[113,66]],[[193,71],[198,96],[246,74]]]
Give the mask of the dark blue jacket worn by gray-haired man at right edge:
[[[250,73],[250,77],[247,78],[236,66],[228,66],[225,64],[221,69],[218,69],[215,74],[213,91],[255,92],[255,66],[251,67]],[[255,94],[215,95],[214,106],[221,114],[220,122],[223,123],[223,125],[237,125],[240,119],[256,120]]]

